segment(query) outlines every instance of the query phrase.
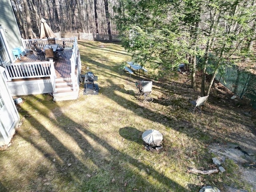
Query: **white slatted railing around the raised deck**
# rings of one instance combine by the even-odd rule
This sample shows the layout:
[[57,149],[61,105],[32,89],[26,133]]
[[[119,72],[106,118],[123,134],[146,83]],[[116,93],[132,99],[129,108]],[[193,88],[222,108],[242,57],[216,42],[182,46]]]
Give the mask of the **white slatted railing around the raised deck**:
[[[78,43],[76,38],[59,38],[55,39],[56,44],[62,44],[63,41],[66,43],[65,49],[71,49],[72,55],[70,58],[71,63],[71,80],[73,85],[73,90],[77,88],[76,82],[79,85],[79,81],[76,78],[79,77],[81,71],[81,60],[78,51]],[[43,48],[48,44],[47,39],[22,39],[22,45],[24,49],[30,50],[33,46],[33,42],[37,42],[40,48]],[[77,71],[76,71],[77,67]],[[52,82],[53,91],[56,92],[56,73],[54,68],[53,60],[41,61],[41,62],[31,62],[31,63],[10,63],[5,64],[6,77],[7,80],[13,79],[25,79],[25,78],[40,78],[40,77],[50,77]]]

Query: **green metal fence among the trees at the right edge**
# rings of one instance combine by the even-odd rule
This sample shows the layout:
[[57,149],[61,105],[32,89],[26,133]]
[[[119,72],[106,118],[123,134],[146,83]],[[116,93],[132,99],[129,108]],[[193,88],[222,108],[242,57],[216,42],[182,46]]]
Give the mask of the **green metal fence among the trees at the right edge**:
[[232,65],[226,68],[224,73],[218,73],[215,79],[236,96],[249,99],[252,107],[256,109],[256,74]]

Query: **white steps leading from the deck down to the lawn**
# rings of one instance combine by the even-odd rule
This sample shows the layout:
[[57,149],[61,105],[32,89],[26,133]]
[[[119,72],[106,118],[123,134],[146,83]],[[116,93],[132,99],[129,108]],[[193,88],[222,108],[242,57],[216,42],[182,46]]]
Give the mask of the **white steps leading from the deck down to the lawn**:
[[56,93],[53,93],[53,100],[76,100],[78,98],[78,91],[77,82],[75,82],[75,87],[73,87],[70,78],[56,78]]

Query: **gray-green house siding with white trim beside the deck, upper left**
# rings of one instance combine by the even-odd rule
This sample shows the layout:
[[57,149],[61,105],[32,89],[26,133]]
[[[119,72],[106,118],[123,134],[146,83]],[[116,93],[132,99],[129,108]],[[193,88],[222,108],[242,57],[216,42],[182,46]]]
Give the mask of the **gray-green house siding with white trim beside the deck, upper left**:
[[0,25],[4,29],[6,38],[6,49],[10,56],[10,61],[14,61],[12,49],[22,46],[20,30],[16,22],[14,12],[10,0],[1,0],[0,8]]

